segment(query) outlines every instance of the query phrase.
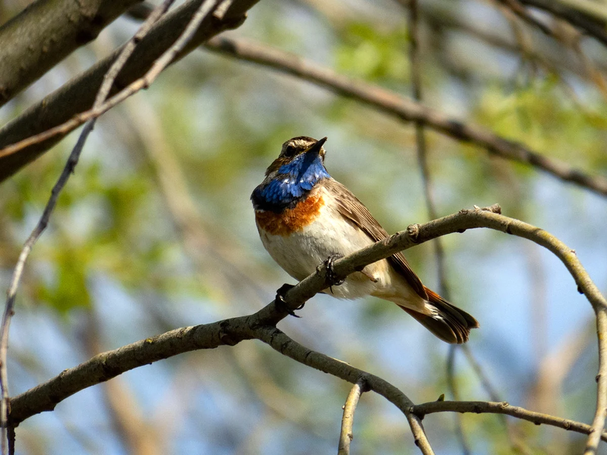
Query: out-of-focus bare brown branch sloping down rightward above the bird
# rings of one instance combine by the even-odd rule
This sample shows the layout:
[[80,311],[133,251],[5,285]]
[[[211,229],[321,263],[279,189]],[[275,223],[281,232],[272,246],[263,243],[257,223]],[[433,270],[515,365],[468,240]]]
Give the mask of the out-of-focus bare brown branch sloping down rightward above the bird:
[[607,178],[589,175],[563,161],[548,158],[523,144],[507,140],[484,127],[464,123],[443,112],[402,98],[396,93],[362,81],[339,75],[304,58],[245,39],[214,38],[206,43],[210,50],[255,62],[323,86],[339,95],[354,98],[405,121],[420,121],[426,126],[461,141],[484,147],[489,153],[507,160],[534,166],[560,180],[575,183],[607,196]]

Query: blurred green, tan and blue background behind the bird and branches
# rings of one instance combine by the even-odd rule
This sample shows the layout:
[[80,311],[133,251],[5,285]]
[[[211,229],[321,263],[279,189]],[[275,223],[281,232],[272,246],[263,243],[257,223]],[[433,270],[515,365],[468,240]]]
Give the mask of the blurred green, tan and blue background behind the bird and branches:
[[[26,1],[0,2],[0,21]],[[607,175],[605,47],[535,10],[546,35],[499,2],[421,0],[424,103]],[[410,97],[407,2],[263,0],[225,36],[296,53]],[[123,16],[0,110],[19,115],[109,55]],[[558,33],[557,33],[558,32]],[[72,133],[0,187],[0,284],[76,140]],[[311,83],[200,49],[102,116],[25,269],[10,332],[12,395],[94,354],[180,326],[249,314],[293,280],[257,235],[249,195],[283,141],[328,136],[325,164],[388,232],[429,220],[415,130]],[[439,216],[500,203],[574,248],[607,290],[607,200],[427,130]],[[395,305],[317,295],[279,328],[372,372],[413,402],[506,400],[591,422],[594,313],[553,255],[489,230],[443,237],[453,303],[481,328],[451,352]],[[438,288],[432,244],[406,252]],[[450,385],[451,383],[451,385]],[[334,453],[350,385],[261,342],[129,371],[19,425],[22,454]],[[424,419],[437,453],[580,453],[585,436],[501,416]],[[457,428],[461,425],[462,436]],[[404,416],[364,394],[353,453],[418,453]],[[607,453],[604,447],[600,453]]]

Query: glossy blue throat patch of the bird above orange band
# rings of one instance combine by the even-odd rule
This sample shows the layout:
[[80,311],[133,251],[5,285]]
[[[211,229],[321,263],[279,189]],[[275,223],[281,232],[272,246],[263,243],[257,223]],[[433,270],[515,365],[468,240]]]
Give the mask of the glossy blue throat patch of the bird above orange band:
[[270,183],[258,186],[251,200],[256,208],[279,212],[294,206],[318,181],[330,177],[319,155],[302,153],[280,166]]

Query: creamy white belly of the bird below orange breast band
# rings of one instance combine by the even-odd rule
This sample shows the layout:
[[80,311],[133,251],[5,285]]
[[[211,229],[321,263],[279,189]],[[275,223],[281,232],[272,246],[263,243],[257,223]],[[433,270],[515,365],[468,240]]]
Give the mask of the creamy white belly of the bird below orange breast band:
[[[320,209],[315,221],[290,235],[273,235],[260,229],[260,237],[271,257],[297,280],[303,280],[316,271],[334,254],[346,256],[373,243],[367,234],[337,213],[331,213],[328,206]],[[386,260],[365,267],[365,273],[376,278],[374,283],[367,275],[355,272],[340,286],[333,286],[327,294],[337,298],[358,298],[382,291],[394,291],[392,273],[388,272]],[[400,287],[400,286],[399,286]]]

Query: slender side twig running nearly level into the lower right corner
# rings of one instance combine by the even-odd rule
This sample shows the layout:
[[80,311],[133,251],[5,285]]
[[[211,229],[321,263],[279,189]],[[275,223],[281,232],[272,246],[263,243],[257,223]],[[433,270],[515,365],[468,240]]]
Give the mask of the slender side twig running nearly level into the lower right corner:
[[[563,430],[577,431],[577,433],[590,434],[590,425],[586,423],[575,422],[574,420],[563,419],[562,417],[550,416],[549,414],[536,413],[519,406],[510,406],[506,402],[484,402],[484,401],[433,401],[413,406],[413,414],[421,419],[427,414],[433,413],[475,413],[475,414],[506,414],[507,416],[517,417],[517,419],[528,420],[535,425],[557,426]],[[600,434],[600,439],[607,441],[607,433]]]

